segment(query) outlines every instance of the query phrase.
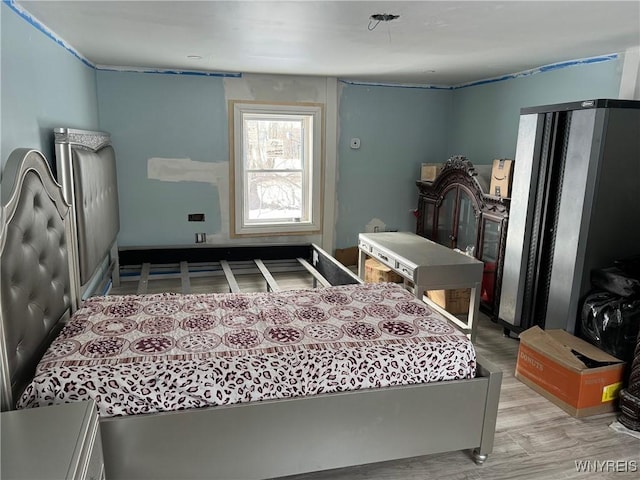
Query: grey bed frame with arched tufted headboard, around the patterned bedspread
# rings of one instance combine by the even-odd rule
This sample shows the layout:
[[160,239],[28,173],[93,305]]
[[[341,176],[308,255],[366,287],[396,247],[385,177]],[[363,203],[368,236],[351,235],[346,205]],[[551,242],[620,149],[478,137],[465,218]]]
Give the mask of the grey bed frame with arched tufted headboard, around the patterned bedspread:
[[[69,317],[78,263],[72,209],[39,152],[11,154],[2,195],[7,409]],[[327,268],[338,265],[314,251]],[[462,449],[482,463],[493,448],[502,373],[481,357],[477,371],[469,380],[102,419],[107,478],[272,478]]]

